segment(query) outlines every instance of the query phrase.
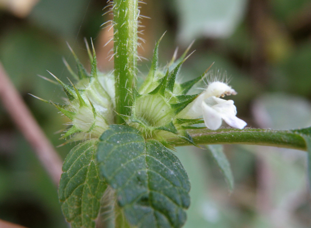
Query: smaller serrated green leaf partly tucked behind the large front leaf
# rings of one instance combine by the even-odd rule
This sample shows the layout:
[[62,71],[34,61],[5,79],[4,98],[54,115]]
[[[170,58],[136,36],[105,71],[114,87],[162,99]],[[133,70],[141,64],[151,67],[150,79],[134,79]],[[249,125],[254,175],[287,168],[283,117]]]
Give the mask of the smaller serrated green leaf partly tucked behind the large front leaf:
[[78,144],[67,155],[59,182],[59,200],[72,228],[95,228],[100,199],[107,185],[100,179],[96,162],[97,141]]

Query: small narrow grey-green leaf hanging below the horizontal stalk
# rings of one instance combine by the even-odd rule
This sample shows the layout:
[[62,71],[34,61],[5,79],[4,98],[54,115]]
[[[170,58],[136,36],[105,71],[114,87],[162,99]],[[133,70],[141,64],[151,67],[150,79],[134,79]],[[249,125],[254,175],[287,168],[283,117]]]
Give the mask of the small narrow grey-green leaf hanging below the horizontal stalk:
[[230,168],[230,163],[223,152],[222,145],[207,145],[207,149],[211,152],[211,156],[214,158],[215,162],[217,163],[220,171],[225,176],[225,180],[228,184],[230,191],[234,188],[234,178],[232,175],[232,171]]

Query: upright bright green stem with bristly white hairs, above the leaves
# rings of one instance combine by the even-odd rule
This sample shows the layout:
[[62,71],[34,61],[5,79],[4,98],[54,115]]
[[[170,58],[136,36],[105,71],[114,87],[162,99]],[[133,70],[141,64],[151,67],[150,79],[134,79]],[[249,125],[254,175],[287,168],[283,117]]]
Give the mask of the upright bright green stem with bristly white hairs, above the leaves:
[[[116,112],[130,115],[137,75],[137,0],[114,0],[114,79]],[[116,123],[124,121],[118,115]]]

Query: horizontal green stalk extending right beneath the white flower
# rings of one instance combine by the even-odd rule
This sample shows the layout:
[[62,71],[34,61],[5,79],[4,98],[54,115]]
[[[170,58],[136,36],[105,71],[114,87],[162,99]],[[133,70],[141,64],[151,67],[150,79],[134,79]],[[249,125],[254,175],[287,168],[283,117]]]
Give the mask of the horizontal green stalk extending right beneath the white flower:
[[[216,131],[208,129],[189,130],[189,135],[196,144],[253,144],[307,150],[305,139],[301,134],[291,130],[270,130],[245,128],[243,130],[221,128]],[[181,138],[168,140],[174,146],[189,145]]]

